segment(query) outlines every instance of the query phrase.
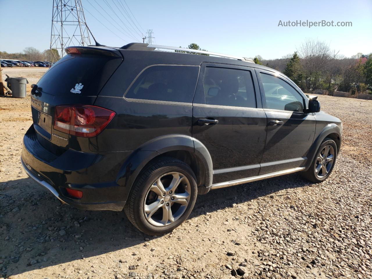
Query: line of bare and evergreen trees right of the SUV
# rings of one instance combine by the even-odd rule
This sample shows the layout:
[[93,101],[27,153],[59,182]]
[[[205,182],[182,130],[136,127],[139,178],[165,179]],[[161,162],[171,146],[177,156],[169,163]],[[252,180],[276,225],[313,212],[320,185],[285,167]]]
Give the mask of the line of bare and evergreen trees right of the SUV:
[[372,92],[372,53],[347,58],[331,51],[325,42],[307,39],[292,55],[275,60],[263,60],[258,55],[254,62],[282,72],[306,93],[316,89]]

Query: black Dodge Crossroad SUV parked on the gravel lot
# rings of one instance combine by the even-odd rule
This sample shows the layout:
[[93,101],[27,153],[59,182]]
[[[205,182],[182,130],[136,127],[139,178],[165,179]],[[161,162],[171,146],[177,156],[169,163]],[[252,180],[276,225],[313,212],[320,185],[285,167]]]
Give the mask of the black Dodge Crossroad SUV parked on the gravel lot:
[[185,51],[67,48],[31,91],[28,175],[62,203],[125,209],[151,235],[185,221],[198,193],[329,176],[342,124],[316,98],[250,59]]

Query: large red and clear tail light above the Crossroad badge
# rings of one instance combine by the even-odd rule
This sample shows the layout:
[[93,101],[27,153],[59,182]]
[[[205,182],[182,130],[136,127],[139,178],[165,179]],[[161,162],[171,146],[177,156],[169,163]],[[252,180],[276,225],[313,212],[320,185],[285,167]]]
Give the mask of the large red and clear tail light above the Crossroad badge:
[[115,112],[90,105],[63,105],[55,107],[55,130],[91,138],[98,135],[115,116]]

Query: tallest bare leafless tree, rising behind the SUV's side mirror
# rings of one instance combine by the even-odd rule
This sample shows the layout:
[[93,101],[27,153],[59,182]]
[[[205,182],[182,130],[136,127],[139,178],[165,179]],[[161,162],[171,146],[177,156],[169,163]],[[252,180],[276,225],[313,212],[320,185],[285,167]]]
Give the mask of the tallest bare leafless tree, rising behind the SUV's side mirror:
[[330,60],[330,48],[325,42],[306,39],[297,49],[305,81],[305,90],[317,89]]

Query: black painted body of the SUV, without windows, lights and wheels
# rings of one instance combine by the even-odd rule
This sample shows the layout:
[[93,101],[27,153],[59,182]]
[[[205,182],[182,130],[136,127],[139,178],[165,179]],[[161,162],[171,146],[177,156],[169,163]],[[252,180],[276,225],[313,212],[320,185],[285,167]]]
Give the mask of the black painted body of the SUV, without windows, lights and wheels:
[[[22,161],[29,170],[52,185],[63,201],[78,208],[122,210],[138,174],[158,156],[174,156],[190,164],[197,176],[199,193],[207,193],[215,183],[295,167],[308,168],[327,136],[334,138],[340,147],[339,119],[323,112],[266,109],[260,72],[279,76],[303,95],[291,80],[273,69],[205,55],[108,47],[92,49],[113,53],[113,58],[99,72],[99,78],[90,85],[92,94],[52,94],[42,89],[33,92],[34,124],[24,137],[22,150]],[[62,60],[69,56],[74,55],[66,55]],[[81,57],[85,56],[81,54]],[[94,55],[86,59],[94,59]],[[159,64],[199,68],[193,102],[124,97],[145,68]],[[58,67],[58,63],[56,65]],[[205,105],[202,88],[205,67],[250,71],[256,108]],[[76,83],[75,80],[66,82],[72,87]],[[65,104],[100,106],[116,115],[96,137],[76,137],[52,127],[55,106]],[[308,99],[304,96],[304,107],[307,105]],[[47,125],[40,122],[45,115]],[[199,124],[198,119],[205,118],[216,119],[218,124]],[[267,125],[276,119],[282,120],[283,125]],[[81,190],[83,198],[72,198],[66,187]]]

